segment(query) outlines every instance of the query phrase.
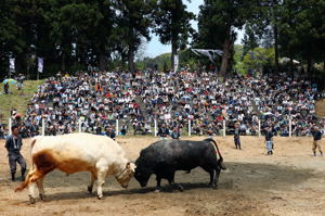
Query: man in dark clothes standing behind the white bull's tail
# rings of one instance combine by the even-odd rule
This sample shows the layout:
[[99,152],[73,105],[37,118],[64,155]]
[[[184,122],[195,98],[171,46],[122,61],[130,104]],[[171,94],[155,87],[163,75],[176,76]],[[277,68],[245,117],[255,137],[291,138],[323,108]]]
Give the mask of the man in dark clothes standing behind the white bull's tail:
[[4,145],[8,151],[11,180],[15,181],[16,163],[18,163],[21,165],[22,181],[24,181],[25,171],[26,171],[26,162],[23,155],[21,154],[21,149],[23,145],[22,136],[20,135],[17,126],[12,126],[11,130],[12,130],[12,135],[6,138],[5,145]]

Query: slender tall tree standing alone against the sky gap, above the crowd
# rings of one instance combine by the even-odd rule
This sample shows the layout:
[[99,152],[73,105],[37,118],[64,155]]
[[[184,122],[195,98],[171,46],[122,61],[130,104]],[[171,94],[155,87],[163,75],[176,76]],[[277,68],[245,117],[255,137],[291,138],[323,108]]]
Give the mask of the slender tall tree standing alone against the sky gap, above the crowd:
[[154,12],[156,27],[154,33],[159,36],[162,45],[171,43],[171,68],[174,67],[174,55],[179,48],[185,47],[188,37],[194,33],[191,21],[195,18],[186,11],[182,0],[160,0]]

